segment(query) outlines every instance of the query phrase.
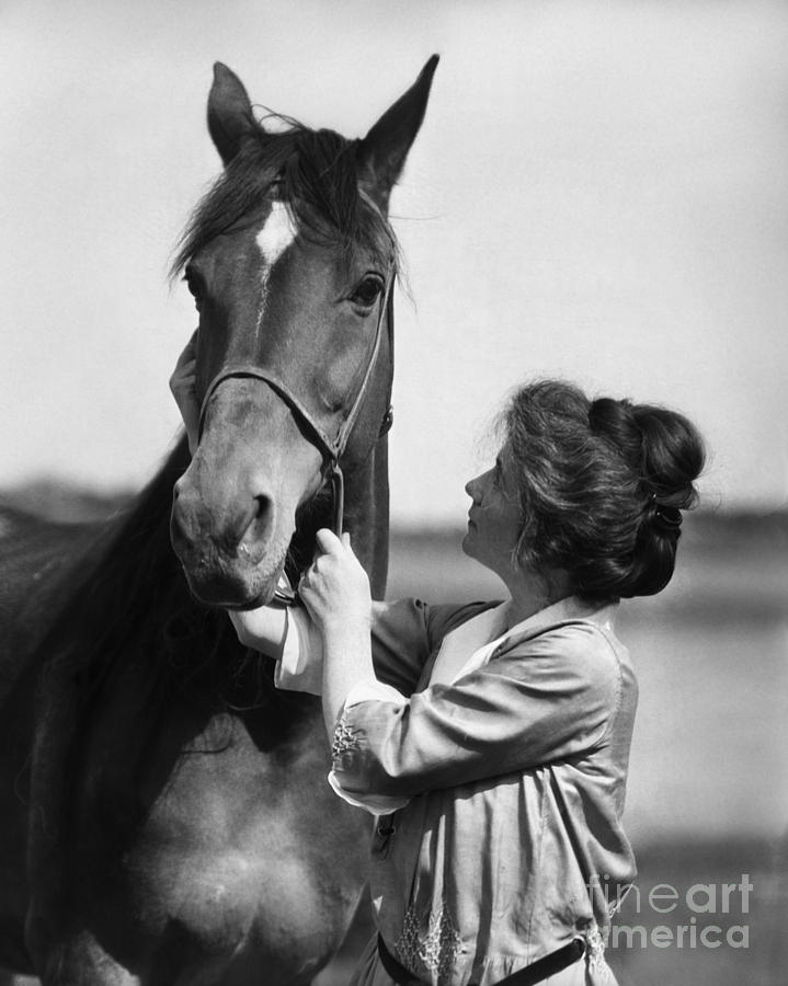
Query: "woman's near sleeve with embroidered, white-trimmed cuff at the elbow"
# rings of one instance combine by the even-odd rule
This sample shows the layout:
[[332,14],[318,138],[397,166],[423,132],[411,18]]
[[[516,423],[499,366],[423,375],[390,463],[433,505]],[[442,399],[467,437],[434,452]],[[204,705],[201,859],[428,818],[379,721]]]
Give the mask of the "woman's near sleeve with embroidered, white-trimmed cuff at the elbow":
[[391,811],[427,790],[579,756],[604,742],[620,689],[618,658],[587,622],[409,699],[357,687],[338,722],[331,783],[378,813],[381,799]]

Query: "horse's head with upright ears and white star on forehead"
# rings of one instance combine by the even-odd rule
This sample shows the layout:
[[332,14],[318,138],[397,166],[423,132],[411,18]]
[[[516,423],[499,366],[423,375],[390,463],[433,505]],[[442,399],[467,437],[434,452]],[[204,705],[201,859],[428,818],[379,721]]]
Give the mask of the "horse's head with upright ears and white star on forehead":
[[176,260],[199,312],[201,433],[171,516],[204,603],[269,601],[299,508],[378,439],[392,376],[388,202],[436,64],[359,140],[263,126],[215,67],[208,129],[225,170]]

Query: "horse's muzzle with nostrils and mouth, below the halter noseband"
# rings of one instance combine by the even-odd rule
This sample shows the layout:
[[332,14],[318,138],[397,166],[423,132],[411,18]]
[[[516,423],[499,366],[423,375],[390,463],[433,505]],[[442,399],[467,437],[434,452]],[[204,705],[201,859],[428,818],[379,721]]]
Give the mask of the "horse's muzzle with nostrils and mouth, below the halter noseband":
[[273,597],[296,511],[323,482],[323,456],[310,437],[265,382],[229,378],[215,389],[170,520],[198,599],[243,607]]

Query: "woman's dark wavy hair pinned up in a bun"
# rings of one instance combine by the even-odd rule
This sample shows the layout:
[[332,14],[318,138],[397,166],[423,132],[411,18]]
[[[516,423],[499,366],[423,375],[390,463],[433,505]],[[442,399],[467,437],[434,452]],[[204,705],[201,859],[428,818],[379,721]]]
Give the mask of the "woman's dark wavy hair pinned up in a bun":
[[683,414],[560,380],[517,390],[501,415],[517,488],[516,561],[562,570],[586,599],[649,596],[673,575],[704,443]]

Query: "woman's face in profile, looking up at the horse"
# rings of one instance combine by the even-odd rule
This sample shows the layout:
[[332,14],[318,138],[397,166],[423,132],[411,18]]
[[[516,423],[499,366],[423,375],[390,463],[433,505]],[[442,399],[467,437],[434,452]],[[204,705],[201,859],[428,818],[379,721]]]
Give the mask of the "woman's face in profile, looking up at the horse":
[[513,552],[523,526],[519,497],[507,474],[509,461],[504,446],[492,469],[466,483],[465,492],[473,502],[468,511],[468,532],[462,539],[462,551],[504,582],[515,571]]

